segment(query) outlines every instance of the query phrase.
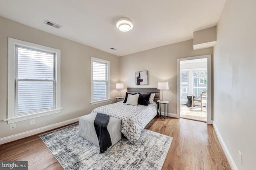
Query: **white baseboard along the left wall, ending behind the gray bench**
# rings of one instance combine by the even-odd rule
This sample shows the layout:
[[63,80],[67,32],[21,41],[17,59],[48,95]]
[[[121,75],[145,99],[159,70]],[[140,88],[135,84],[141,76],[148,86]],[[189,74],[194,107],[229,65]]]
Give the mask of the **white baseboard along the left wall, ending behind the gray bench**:
[[65,125],[74,123],[76,121],[78,121],[78,117],[74,118],[74,119],[67,120],[67,121],[62,121],[60,123],[55,123],[53,125],[48,125],[48,126],[45,126],[45,127],[40,127],[38,129],[33,129],[31,131],[26,131],[26,132],[23,132],[23,133],[19,133],[19,134],[16,134],[16,135],[3,137],[3,138],[0,139],[0,145],[2,145],[4,143],[15,141],[15,140],[18,140],[18,139],[22,139],[24,137],[29,137],[29,136],[32,136],[32,135],[36,135],[38,133],[42,133],[42,132],[45,132],[45,131],[49,131],[51,129],[55,129],[55,128],[58,128],[58,127],[61,127],[61,126],[65,126]]

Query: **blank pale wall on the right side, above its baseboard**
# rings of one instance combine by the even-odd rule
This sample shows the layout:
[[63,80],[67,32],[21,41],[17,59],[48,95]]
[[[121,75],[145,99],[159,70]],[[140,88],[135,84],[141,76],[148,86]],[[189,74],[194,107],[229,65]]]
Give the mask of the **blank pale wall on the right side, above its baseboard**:
[[214,46],[214,124],[234,169],[256,168],[255,84],[256,1],[226,0]]

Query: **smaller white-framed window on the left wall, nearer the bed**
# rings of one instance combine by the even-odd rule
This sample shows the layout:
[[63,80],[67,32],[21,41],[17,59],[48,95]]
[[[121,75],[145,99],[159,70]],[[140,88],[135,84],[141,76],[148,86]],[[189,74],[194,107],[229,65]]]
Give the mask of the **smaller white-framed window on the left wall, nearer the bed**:
[[98,104],[109,102],[109,65],[110,62],[102,59],[91,58],[92,69],[92,102]]

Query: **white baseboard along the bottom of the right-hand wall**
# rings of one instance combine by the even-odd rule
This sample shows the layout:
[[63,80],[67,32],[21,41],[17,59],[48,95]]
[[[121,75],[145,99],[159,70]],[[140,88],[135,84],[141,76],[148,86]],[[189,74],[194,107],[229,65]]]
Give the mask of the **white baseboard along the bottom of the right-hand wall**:
[[212,122],[212,125],[213,125],[215,133],[220,141],[220,145],[222,146],[222,149],[224,150],[224,153],[225,153],[226,157],[228,158],[228,162],[229,162],[232,170],[238,170],[238,168],[236,167],[236,164],[235,164],[230,152],[228,151],[228,148],[227,148],[226,144],[224,143],[224,141],[220,135],[220,132],[218,131],[218,128],[217,128],[216,124],[214,123],[214,121]]

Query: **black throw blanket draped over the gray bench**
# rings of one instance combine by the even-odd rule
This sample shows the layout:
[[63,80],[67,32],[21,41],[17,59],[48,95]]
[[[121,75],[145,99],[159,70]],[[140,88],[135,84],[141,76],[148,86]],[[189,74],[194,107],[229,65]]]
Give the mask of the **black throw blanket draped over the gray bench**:
[[97,113],[94,120],[94,127],[99,140],[100,153],[104,153],[112,145],[107,129],[108,122],[109,115]]

